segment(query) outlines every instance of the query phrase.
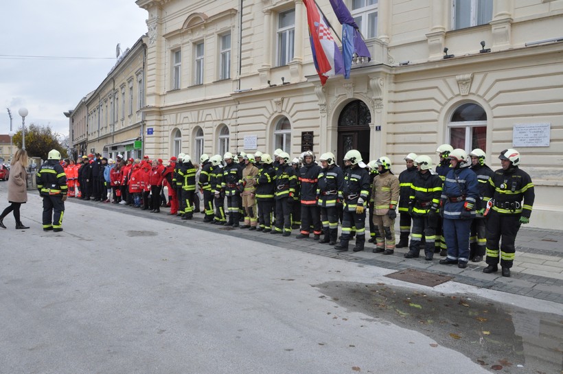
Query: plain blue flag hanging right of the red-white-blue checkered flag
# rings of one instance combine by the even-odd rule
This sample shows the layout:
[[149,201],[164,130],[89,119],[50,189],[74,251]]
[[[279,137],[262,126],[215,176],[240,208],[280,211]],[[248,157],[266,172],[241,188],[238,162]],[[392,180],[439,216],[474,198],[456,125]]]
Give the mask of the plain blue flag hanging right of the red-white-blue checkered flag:
[[354,21],[354,17],[350,14],[348,8],[342,0],[330,0],[330,5],[334,10],[334,14],[338,17],[338,21],[342,25],[342,54],[344,59],[344,78],[350,78],[350,70],[352,69],[352,59],[354,54],[358,57],[367,57],[371,60],[369,49],[365,45],[364,40],[358,31],[358,25]]

